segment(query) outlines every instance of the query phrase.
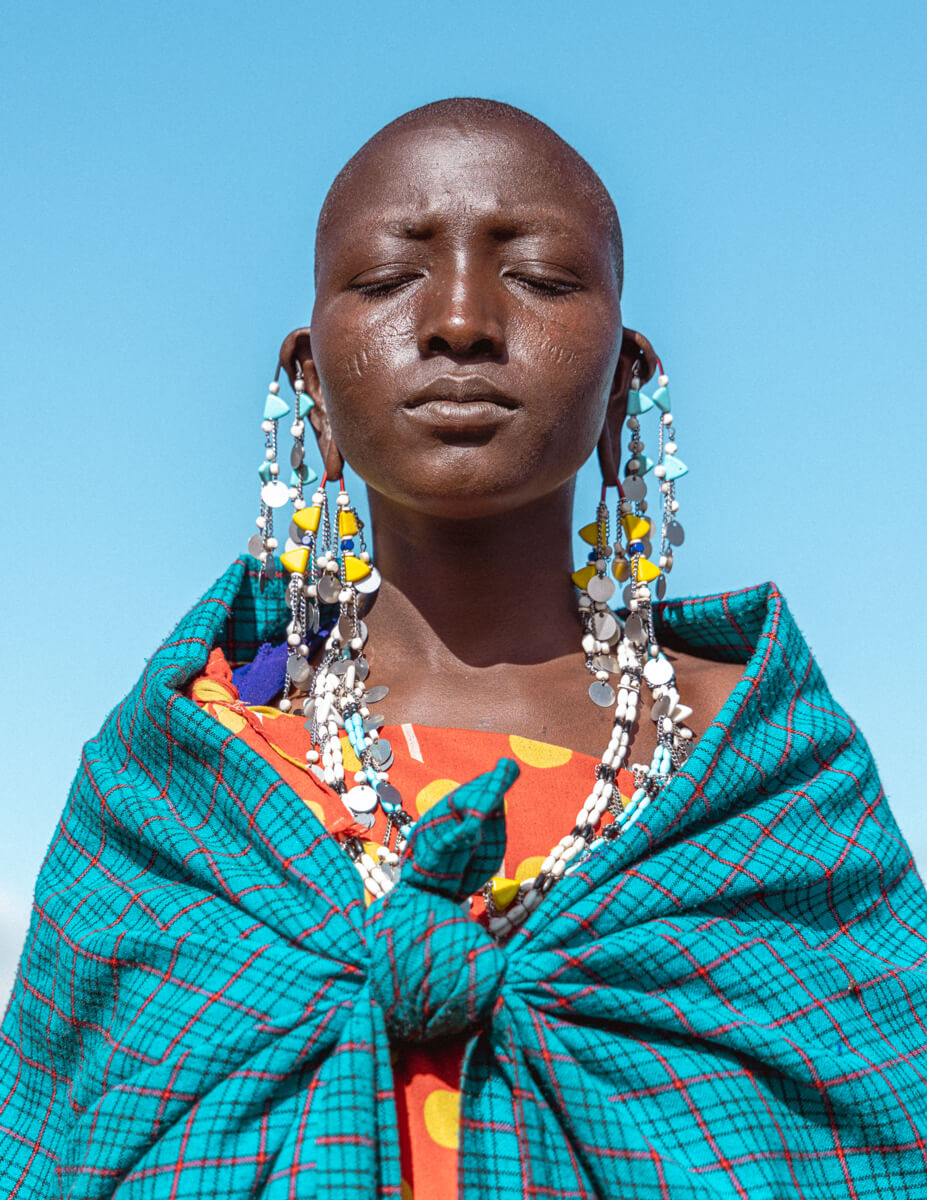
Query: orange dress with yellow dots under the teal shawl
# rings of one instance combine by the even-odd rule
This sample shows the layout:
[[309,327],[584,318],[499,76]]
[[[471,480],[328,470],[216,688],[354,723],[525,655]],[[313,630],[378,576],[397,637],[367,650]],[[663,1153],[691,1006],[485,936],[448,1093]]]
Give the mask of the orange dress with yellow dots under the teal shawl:
[[[335,792],[310,785],[305,754],[309,731],[301,714],[263,704],[245,706],[232,683],[221,649],[214,649],[202,676],[186,694],[227,728],[274,764],[322,824],[335,830],[347,810]],[[506,798],[508,847],[500,875],[519,882],[537,875],[550,847],[573,827],[576,811],[594,781],[597,760],[563,746],[515,734],[442,730],[425,725],[385,725],[379,731],[393,746],[389,781],[399,788],[409,816],[418,817],[460,784],[490,769],[500,758],[514,758],[520,775]],[[345,772],[360,768],[347,737],[341,739]],[[629,772],[618,785],[627,798],[634,790]],[[611,820],[609,814],[604,821]],[[369,832],[378,845],[385,827],[381,810]],[[367,895],[367,904],[371,896]],[[482,895],[473,896],[471,916],[485,920]],[[395,1049],[393,1073],[402,1166],[402,1198],[448,1200],[457,1192],[460,1070],[465,1038]]]

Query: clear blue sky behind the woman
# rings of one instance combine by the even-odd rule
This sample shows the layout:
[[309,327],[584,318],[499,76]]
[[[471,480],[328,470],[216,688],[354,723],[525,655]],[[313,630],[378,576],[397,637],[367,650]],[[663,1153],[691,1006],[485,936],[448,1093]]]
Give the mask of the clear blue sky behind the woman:
[[2,25],[0,990],[80,744],[253,529],[322,197],[448,95],[527,108],[611,188],[690,464],[674,584],[781,584],[927,864],[922,2],[20,0]]

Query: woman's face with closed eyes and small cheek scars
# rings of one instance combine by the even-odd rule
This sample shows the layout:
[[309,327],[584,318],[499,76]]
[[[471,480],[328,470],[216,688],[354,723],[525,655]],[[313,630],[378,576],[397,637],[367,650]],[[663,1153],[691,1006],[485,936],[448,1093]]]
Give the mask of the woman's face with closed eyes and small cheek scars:
[[316,295],[316,421],[382,497],[489,516],[569,485],[593,450],[621,310],[606,221],[556,143],[432,126],[375,144]]

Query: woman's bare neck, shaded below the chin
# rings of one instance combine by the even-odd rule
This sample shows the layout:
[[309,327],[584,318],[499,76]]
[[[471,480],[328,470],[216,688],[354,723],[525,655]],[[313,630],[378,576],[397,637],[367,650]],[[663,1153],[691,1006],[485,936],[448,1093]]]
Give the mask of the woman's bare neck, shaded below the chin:
[[383,586],[365,620],[381,652],[474,667],[576,653],[573,480],[473,521],[425,516],[372,491],[370,511]]

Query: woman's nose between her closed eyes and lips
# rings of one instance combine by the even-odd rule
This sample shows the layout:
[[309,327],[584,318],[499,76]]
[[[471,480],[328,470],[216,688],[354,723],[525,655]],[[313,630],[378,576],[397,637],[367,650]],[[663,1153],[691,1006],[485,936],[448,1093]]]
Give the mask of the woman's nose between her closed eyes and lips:
[[491,282],[474,271],[433,278],[419,323],[419,350],[425,358],[503,359],[504,319]]

